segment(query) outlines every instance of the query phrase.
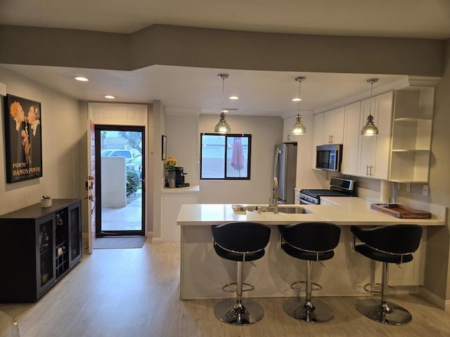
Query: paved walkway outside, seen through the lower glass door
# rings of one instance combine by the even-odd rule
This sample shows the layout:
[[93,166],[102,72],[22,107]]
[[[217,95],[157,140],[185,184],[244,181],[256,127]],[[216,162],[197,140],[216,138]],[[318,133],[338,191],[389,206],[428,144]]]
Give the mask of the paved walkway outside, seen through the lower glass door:
[[138,198],[120,209],[101,209],[102,230],[141,230],[142,197],[141,190],[136,192]]

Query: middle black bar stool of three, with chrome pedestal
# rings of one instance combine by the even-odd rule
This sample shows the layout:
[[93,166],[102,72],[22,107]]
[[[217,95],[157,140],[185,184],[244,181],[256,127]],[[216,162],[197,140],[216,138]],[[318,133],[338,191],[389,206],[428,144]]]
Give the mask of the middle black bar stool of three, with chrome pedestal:
[[[339,243],[340,228],[332,223],[296,223],[279,225],[278,230],[283,251],[294,258],[307,261],[306,281],[297,281],[290,285],[298,291],[299,296],[285,300],[283,310],[291,317],[304,322],[326,322],[332,319],[335,315],[333,309],[317,298],[314,298],[313,303],[311,298],[313,290],[322,289],[319,284],[312,282],[312,261],[333,258],[333,249]],[[300,298],[300,291],[306,292],[304,299]]]

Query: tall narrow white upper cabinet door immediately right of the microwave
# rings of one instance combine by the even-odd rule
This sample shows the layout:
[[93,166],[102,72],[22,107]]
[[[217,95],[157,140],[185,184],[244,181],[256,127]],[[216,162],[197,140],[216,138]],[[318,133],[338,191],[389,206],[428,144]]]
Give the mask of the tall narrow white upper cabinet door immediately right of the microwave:
[[359,118],[361,116],[361,102],[345,106],[345,129],[342,146],[341,171],[349,176],[358,173],[358,146],[361,129]]

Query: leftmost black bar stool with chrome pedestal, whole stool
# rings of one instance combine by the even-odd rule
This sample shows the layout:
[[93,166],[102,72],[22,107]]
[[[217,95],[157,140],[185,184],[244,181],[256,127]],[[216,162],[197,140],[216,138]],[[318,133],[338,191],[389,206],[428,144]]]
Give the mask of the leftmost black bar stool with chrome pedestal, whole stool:
[[[254,289],[243,283],[243,263],[264,256],[264,249],[269,243],[270,228],[262,223],[225,223],[212,226],[214,250],[226,260],[238,263],[236,283],[226,284],[222,289],[226,292],[236,291],[236,300],[227,298],[214,306],[214,315],[221,322],[233,325],[248,325],[258,322],[264,316],[264,309],[254,300],[243,300],[243,291]],[[230,286],[235,286],[230,290]],[[243,289],[247,286],[247,289]]]

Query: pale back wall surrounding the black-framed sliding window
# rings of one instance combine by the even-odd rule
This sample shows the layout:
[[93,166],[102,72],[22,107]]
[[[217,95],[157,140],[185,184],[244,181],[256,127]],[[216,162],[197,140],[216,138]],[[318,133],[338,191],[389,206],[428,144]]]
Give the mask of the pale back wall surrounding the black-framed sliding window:
[[[219,115],[200,116],[200,133],[214,131]],[[200,180],[200,204],[264,204],[271,196],[275,145],[283,141],[281,117],[229,116],[232,133],[252,135],[250,180]]]

